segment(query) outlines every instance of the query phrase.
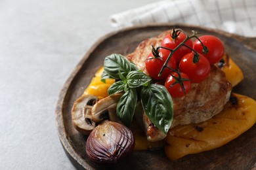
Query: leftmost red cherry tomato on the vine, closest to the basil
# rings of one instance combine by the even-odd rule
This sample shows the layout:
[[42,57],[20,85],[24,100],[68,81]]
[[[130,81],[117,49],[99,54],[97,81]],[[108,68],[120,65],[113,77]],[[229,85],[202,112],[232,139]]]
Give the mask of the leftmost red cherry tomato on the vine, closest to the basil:
[[[175,61],[175,60],[172,60],[172,61]],[[161,71],[161,67],[163,67],[164,63],[165,61],[163,61],[162,58],[155,58],[151,52],[148,55],[148,58],[146,58],[145,60],[146,71],[148,71],[149,76],[156,80],[165,79],[172,71],[170,69],[165,68],[161,76],[158,76],[158,74]],[[176,63],[168,62],[167,67],[176,69]]]

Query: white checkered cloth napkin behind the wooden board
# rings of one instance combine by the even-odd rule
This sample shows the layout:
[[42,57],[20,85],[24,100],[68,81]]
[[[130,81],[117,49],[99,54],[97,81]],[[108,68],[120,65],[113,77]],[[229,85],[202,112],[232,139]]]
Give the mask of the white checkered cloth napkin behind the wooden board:
[[110,16],[113,27],[186,23],[256,37],[256,0],[165,0]]

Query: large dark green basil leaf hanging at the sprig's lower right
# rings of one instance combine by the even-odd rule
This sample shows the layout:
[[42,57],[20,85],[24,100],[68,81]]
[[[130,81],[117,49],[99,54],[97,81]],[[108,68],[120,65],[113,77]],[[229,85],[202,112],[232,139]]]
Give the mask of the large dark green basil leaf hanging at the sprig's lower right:
[[173,121],[173,100],[171,95],[160,84],[143,86],[141,92],[141,103],[148,118],[153,124],[165,134]]

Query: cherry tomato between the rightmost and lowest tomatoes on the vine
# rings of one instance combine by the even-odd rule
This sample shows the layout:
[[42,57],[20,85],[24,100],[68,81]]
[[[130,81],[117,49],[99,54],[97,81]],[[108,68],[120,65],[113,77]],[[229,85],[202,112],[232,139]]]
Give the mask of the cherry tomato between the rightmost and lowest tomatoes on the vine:
[[194,52],[186,54],[181,59],[179,69],[182,73],[186,73],[186,75],[188,75],[191,82],[199,83],[207,78],[210,73],[211,65],[202,54],[199,54],[199,61],[194,63],[194,55]]

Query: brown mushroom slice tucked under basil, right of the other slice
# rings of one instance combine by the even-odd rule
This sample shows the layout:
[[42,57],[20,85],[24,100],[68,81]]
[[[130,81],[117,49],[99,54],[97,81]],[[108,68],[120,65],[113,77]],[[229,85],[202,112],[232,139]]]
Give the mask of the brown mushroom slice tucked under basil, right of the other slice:
[[102,120],[111,120],[121,124],[121,120],[116,115],[116,107],[121,95],[116,93],[96,102],[91,110],[93,121],[97,123]]

